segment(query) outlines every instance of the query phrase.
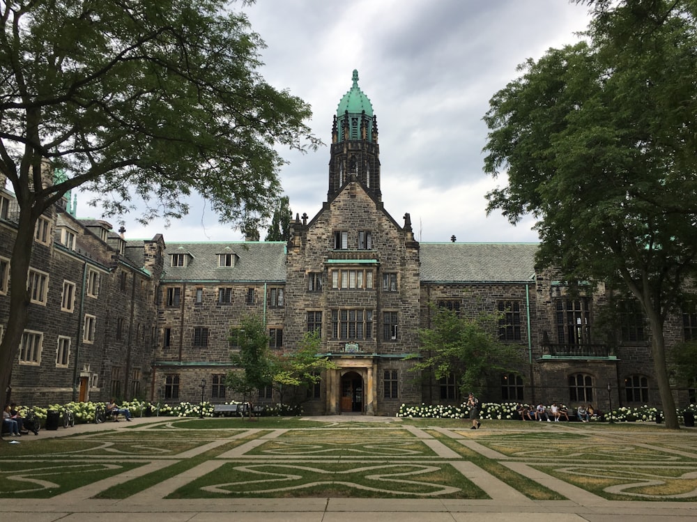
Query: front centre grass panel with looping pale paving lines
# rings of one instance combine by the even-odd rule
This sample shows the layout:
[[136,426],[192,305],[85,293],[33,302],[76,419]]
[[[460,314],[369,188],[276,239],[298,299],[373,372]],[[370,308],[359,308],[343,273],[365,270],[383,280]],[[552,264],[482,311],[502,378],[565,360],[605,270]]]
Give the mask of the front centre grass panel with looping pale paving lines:
[[489,498],[447,463],[227,463],[167,498]]

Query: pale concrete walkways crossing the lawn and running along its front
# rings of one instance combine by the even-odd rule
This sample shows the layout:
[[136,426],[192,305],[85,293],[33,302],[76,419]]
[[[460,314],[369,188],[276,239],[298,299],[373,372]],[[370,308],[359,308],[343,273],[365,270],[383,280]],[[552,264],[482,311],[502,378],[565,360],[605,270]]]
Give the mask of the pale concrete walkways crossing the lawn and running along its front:
[[[125,428],[139,431],[153,427],[153,423],[171,422],[171,417],[136,418],[133,422],[121,421],[118,423],[106,422],[104,424],[80,424],[73,428],[56,431],[40,431],[38,436],[24,436],[17,438],[20,443],[31,443],[33,438],[51,438],[68,436],[75,433],[90,433],[106,430],[121,430]],[[399,419],[385,417],[312,417],[309,420],[321,420],[323,422],[372,422],[378,427],[400,427],[406,429],[413,436],[422,440],[439,459],[454,459],[457,456],[452,450],[435,440],[429,433],[422,429],[416,429],[402,425]],[[387,424],[387,423],[390,424]],[[486,427],[484,427],[485,429]],[[370,429],[370,428],[367,428]],[[484,431],[482,429],[482,431]],[[555,427],[553,429],[560,429]],[[572,429],[568,427],[567,429]],[[574,426],[575,431],[583,432],[583,427]],[[251,431],[258,431],[251,429]],[[452,438],[466,445],[475,452],[482,452],[492,456],[491,450],[466,436],[462,431],[439,429],[438,431],[450,433]],[[273,430],[263,436],[263,440],[271,440],[284,433],[284,430]],[[483,434],[480,432],[480,434]],[[687,433],[685,434],[687,435]],[[675,450],[683,456],[694,456],[691,453],[694,445],[694,437],[697,432],[692,431],[689,440],[686,441],[688,450]],[[235,437],[239,436],[238,434]],[[29,438],[24,441],[23,439]],[[621,439],[621,437],[620,437]],[[11,439],[10,439],[11,440]],[[221,443],[229,442],[229,438],[204,443],[194,450],[186,452],[186,456],[200,454]],[[247,446],[254,447],[262,440],[256,438]],[[8,439],[0,444],[4,445]],[[649,445],[650,446],[650,445]],[[1,447],[1,446],[0,446]],[[121,474],[102,481],[89,484],[73,491],[68,491],[60,496],[48,499],[11,498],[0,499],[0,512],[2,519],[7,521],[32,521],[32,522],[84,522],[86,517],[90,521],[109,522],[261,522],[261,521],[298,521],[298,522],[355,522],[381,521],[381,522],[412,522],[412,521],[506,521],[506,522],[677,522],[694,521],[697,519],[697,502],[674,502],[670,500],[659,502],[608,501],[588,491],[579,489],[572,484],[554,479],[550,475],[535,470],[521,461],[508,461],[503,454],[493,452],[502,457],[499,462],[512,468],[517,473],[522,473],[530,479],[547,488],[562,494],[567,500],[530,500],[516,491],[511,486],[501,482],[486,471],[478,468],[473,463],[463,460],[461,457],[453,461],[454,468],[459,470],[470,481],[474,482],[491,497],[491,500],[447,500],[447,499],[365,499],[365,498],[224,498],[224,499],[194,499],[194,500],[170,500],[163,498],[171,491],[176,490],[182,484],[190,482],[199,476],[206,475],[228,461],[237,461],[242,458],[243,447],[237,447],[229,454],[222,454],[218,459],[211,459],[187,470],[185,473],[175,475],[160,484],[136,493],[124,500],[95,500],[93,497],[99,491],[104,491],[118,482],[130,479],[137,475],[143,475],[150,471],[167,466],[172,461],[185,458],[185,454],[166,456],[146,466],[137,468],[128,475]],[[661,448],[663,449],[663,448]],[[6,450],[0,450],[1,454]],[[697,451],[697,450],[696,450]],[[256,457],[259,458],[259,457]],[[263,458],[263,457],[261,457]],[[226,460],[230,459],[230,460]],[[684,463],[683,463],[684,464]],[[1,466],[1,461],[0,461]]]

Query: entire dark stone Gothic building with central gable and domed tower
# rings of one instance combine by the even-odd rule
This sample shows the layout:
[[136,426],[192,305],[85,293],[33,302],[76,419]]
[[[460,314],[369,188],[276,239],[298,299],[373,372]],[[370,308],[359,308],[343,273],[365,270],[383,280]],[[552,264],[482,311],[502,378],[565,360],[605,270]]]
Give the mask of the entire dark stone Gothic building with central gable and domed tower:
[[[235,349],[229,330],[256,314],[275,351],[321,334],[321,355],[336,368],[302,397],[307,413],[394,415],[403,403],[459,403],[456,376],[418,381],[407,358],[418,353],[433,307],[445,307],[499,312],[500,339],[521,355],[483,401],[659,406],[650,332],[634,303],[608,307],[613,294],[603,284],[572,287],[537,270],[537,245],[421,243],[408,214],[398,221],[388,213],[377,118],[355,71],[329,159],[327,201],[312,217],[296,215],[288,243],[126,241],[106,222],[75,219],[65,202],[56,208],[46,216],[51,233],[37,231],[32,266],[45,276],[44,302],[31,305],[26,342],[36,348],[20,349],[13,397],[242,399],[224,386]],[[3,194],[0,245],[13,237],[11,207]],[[0,318],[8,258],[0,246]],[[666,338],[697,338],[694,309],[668,317]],[[694,401],[694,388],[676,383],[677,404]],[[262,402],[278,399],[260,390]]]

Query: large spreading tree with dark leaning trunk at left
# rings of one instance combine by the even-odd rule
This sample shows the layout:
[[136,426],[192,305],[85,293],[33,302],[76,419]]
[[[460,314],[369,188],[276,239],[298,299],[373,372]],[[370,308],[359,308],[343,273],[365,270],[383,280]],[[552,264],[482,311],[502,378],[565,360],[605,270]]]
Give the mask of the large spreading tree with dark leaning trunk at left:
[[[100,194],[92,203],[105,216],[140,206],[143,221],[178,218],[196,191],[222,220],[268,219],[283,163],[275,145],[318,141],[309,105],[259,74],[263,42],[225,0],[7,0],[0,26],[0,179],[20,209],[5,390],[36,221],[66,192]],[[63,173],[54,183],[43,183],[46,162]]]

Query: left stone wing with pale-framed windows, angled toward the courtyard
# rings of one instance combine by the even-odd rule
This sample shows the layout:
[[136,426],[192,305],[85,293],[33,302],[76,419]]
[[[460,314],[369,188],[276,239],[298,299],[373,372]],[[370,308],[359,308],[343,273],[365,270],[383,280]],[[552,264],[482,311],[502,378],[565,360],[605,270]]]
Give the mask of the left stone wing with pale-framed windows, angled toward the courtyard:
[[[10,192],[2,190],[0,200],[1,337],[18,209]],[[12,400],[46,406],[141,397],[151,382],[162,237],[128,242],[108,222],[77,220],[68,194],[40,217],[34,241],[29,324],[12,369]]]

